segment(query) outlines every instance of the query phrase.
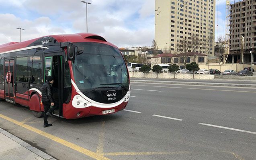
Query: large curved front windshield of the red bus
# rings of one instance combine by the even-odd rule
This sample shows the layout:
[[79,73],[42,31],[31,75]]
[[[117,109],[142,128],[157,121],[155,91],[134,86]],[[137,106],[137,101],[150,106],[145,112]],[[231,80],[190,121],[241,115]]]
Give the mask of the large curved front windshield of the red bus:
[[82,54],[72,63],[74,79],[84,94],[97,88],[120,88],[127,92],[128,73],[117,48],[93,42],[74,43]]

